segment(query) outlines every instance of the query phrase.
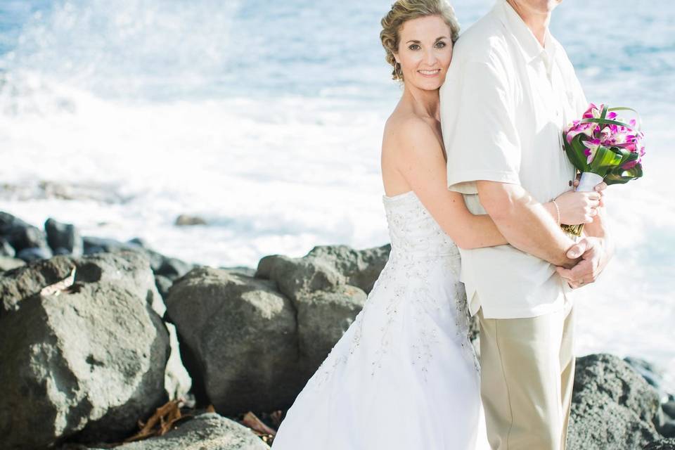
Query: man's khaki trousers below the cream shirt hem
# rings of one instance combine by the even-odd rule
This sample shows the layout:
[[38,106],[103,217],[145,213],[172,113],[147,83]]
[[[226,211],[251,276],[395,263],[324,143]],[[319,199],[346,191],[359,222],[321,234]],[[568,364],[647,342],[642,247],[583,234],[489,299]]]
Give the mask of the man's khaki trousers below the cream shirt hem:
[[481,396],[494,450],[564,450],[574,384],[574,310],[480,321]]

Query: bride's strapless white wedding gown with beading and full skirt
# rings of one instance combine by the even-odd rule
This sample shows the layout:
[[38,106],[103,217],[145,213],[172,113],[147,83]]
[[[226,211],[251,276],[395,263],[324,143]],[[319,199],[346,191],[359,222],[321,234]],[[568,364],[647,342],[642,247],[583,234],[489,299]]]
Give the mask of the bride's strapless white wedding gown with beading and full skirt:
[[414,192],[383,202],[389,261],[272,450],[489,450],[458,249]]

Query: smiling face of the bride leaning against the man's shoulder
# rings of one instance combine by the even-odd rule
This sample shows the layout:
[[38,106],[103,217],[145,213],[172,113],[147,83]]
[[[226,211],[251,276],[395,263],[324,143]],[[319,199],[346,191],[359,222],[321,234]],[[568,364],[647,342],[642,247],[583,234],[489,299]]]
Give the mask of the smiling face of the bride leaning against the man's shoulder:
[[408,20],[399,32],[394,58],[406,83],[419,89],[439,89],[452,59],[450,27],[438,15]]

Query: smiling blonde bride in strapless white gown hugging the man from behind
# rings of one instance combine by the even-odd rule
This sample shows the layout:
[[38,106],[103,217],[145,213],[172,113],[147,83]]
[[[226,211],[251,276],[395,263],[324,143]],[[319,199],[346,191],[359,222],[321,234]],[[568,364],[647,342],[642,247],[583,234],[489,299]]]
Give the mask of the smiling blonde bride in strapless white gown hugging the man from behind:
[[[459,26],[444,0],[398,0],[382,26],[403,84],[381,160],[392,252],[364,309],[287,411],[273,450],[489,449],[457,246],[507,242],[446,188],[439,87]],[[600,198],[569,191],[546,207],[563,223],[587,223]]]

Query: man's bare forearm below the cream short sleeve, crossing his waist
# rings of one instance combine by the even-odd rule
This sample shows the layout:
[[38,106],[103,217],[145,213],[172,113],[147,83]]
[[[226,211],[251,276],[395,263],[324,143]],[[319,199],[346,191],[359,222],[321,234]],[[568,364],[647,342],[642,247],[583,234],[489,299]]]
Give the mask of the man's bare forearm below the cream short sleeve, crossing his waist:
[[513,247],[556,266],[571,268],[577,263],[581,252],[577,257],[568,255],[574,241],[522,186],[498,181],[477,181],[476,186],[480,203]]

